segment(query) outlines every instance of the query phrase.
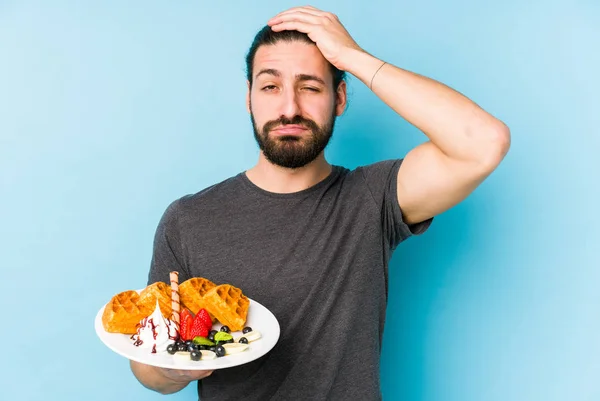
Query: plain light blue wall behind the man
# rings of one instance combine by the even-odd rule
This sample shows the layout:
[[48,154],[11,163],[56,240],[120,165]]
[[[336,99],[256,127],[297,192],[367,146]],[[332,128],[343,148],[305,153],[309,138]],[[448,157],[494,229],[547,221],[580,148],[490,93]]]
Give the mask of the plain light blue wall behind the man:
[[[3,400],[163,399],[93,318],[145,284],[170,201],[256,160],[243,58],[295,4],[224,3],[0,1]],[[385,398],[600,400],[598,2],[314,5],[512,130],[501,168],[394,256]],[[332,162],[424,140],[358,80],[350,91]]]

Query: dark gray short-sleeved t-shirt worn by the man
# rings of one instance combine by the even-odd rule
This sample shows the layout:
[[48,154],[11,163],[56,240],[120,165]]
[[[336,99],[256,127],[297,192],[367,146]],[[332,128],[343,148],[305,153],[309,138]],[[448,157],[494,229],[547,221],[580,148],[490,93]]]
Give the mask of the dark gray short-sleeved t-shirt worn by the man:
[[267,192],[240,173],[167,208],[148,284],[168,283],[173,270],[180,282],[229,283],[281,326],[267,355],[198,382],[202,401],[381,399],[388,261],[432,221],[402,221],[401,162],[334,166],[290,194]]

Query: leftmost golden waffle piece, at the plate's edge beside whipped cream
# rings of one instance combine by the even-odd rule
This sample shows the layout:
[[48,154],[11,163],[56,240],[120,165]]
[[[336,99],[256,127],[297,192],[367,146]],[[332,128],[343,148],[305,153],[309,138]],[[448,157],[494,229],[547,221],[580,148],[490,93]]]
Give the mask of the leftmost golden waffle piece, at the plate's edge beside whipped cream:
[[140,296],[136,291],[123,291],[106,304],[102,325],[109,333],[134,334],[137,324],[146,317],[137,305]]

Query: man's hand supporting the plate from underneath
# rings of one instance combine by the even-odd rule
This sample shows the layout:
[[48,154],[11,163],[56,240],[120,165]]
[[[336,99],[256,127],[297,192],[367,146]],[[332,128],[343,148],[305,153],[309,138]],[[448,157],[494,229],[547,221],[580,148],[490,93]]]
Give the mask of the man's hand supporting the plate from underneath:
[[131,371],[147,389],[161,394],[176,393],[190,382],[210,376],[212,370],[174,370],[130,361]]

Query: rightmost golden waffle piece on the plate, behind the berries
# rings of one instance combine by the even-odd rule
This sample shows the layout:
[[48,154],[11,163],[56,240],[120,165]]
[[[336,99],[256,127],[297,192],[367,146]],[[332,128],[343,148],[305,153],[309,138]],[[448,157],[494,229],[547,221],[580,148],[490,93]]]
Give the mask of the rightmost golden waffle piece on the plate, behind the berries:
[[221,284],[209,290],[203,298],[206,310],[231,331],[244,328],[250,300],[242,290],[231,284]]

